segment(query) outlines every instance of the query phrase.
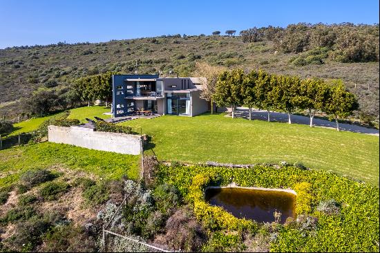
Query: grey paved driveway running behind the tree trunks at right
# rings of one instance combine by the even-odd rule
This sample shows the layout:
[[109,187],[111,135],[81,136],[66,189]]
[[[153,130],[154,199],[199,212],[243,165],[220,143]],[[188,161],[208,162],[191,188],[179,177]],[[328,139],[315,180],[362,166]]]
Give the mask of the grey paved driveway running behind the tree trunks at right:
[[[238,107],[237,108],[237,116],[243,117],[243,118],[249,118],[249,109],[247,107]],[[292,123],[296,124],[310,124],[310,118],[301,116],[301,115],[291,115],[292,117]],[[252,111],[252,120],[267,120],[267,111],[261,111],[261,110],[253,110]],[[276,113],[271,112],[270,113],[270,120],[276,121],[276,122],[287,122],[287,113]],[[318,118],[314,118],[313,120],[315,127],[328,127],[335,129],[336,123],[331,122],[328,120],[321,120]],[[360,127],[355,124],[343,124],[339,123],[339,127],[341,131],[350,131],[354,133],[367,133],[372,135],[379,136],[379,130],[377,129],[370,129],[367,127]]]

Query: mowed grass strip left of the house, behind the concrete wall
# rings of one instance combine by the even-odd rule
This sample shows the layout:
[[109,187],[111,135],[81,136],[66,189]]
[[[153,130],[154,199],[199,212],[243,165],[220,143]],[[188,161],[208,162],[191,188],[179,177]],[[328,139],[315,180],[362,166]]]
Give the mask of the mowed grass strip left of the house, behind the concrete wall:
[[[71,109],[68,118],[78,119],[82,123],[85,123],[87,122],[86,118],[91,118],[92,120],[95,120],[94,116],[97,116],[102,119],[111,118],[111,115],[103,114],[108,113],[110,111],[111,109],[106,108],[106,106],[85,106]],[[12,133],[10,133],[9,135],[17,135],[18,133],[29,133],[35,131],[36,129],[38,129],[39,125],[42,124],[45,120],[48,120],[61,114],[62,113],[57,113],[55,115],[49,115],[42,118],[34,118],[13,124],[14,131],[12,131]]]

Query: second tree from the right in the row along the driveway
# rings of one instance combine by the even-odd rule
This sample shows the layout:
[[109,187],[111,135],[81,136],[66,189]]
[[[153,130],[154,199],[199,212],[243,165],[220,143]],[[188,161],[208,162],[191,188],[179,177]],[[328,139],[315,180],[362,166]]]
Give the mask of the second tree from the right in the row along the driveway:
[[310,127],[313,127],[314,115],[318,111],[323,111],[323,105],[328,99],[328,86],[322,79],[303,79],[299,87],[299,94],[296,96],[299,109],[307,110],[310,116]]

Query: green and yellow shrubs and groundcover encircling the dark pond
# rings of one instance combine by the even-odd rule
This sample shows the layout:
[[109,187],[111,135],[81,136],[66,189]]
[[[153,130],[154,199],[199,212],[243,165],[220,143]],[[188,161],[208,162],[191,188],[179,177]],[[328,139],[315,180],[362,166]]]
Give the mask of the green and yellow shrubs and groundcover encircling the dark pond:
[[[276,252],[379,252],[379,188],[331,171],[292,166],[252,168],[160,165],[160,182],[174,185],[209,234],[203,250]],[[290,188],[297,192],[297,218],[284,225],[255,224],[207,205],[207,185]]]

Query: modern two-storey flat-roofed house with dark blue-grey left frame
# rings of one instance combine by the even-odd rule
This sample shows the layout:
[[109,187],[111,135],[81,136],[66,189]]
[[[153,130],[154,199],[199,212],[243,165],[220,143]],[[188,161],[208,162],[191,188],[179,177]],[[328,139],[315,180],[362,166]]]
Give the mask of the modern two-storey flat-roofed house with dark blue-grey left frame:
[[198,77],[113,75],[112,85],[114,117],[141,110],[191,117],[208,110]]

